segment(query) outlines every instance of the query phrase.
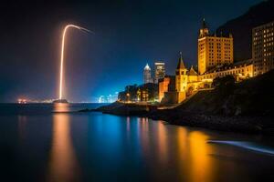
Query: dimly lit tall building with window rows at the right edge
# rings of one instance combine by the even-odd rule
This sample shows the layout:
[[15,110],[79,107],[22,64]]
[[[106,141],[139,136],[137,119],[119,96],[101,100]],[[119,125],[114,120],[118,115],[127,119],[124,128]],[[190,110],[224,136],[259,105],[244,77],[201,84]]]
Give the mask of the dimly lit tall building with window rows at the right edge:
[[274,22],[252,29],[254,76],[274,68]]

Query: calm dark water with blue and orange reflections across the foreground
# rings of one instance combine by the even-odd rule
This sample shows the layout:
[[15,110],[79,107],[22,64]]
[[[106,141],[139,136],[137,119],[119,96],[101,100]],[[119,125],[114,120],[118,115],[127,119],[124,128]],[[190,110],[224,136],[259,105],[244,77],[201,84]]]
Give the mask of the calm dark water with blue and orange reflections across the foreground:
[[0,181],[274,181],[268,138],[52,112],[95,106],[0,105]]

